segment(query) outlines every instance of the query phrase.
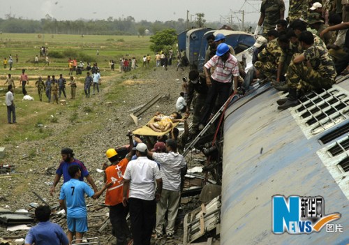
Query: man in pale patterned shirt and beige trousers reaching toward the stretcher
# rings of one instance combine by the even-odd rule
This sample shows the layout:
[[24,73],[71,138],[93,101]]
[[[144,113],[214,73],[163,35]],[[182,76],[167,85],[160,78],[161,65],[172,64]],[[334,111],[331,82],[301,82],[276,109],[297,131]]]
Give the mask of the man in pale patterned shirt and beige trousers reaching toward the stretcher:
[[168,211],[166,236],[167,239],[173,239],[174,222],[176,221],[179,200],[181,199],[181,173],[186,171],[186,160],[177,152],[176,140],[166,140],[166,151],[168,153],[148,151],[148,156],[151,156],[156,163],[161,165],[161,178],[163,179],[163,191],[160,202],[157,204],[155,228],[157,239],[163,237],[166,211]]

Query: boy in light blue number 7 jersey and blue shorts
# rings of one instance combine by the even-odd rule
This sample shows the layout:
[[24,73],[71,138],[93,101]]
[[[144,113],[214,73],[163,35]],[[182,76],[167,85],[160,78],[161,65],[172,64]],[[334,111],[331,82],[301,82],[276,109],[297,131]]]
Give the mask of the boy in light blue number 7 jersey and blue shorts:
[[67,207],[67,226],[69,244],[73,240],[73,235],[77,242],[81,241],[84,232],[87,232],[87,208],[84,200],[84,194],[91,198],[99,198],[105,189],[112,186],[112,181],[106,183],[100,191],[96,193],[84,181],[80,181],[81,170],[78,165],[71,165],[68,168],[71,179],[61,187],[59,195],[59,205],[64,207],[66,200]]

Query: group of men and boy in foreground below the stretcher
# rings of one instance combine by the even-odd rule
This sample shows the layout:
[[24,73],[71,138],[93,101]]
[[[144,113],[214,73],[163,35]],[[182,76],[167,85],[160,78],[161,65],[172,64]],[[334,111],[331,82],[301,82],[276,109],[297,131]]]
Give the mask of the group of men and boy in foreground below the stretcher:
[[[127,137],[128,151],[107,149],[105,155],[110,164],[103,163],[105,184],[99,190],[84,163],[74,157],[73,149],[61,149],[62,161],[50,195],[54,195],[63,176],[59,204],[66,211],[68,235],[59,225],[50,222],[51,209],[42,205],[35,212],[39,223],[29,230],[25,244],[43,241],[71,244],[74,236],[77,243],[82,242],[88,231],[85,195],[96,199],[103,192],[117,244],[125,245],[133,239],[135,245],[148,245],[153,233],[156,239],[163,239],[164,235],[166,239],[173,239],[181,183],[186,173],[186,161],[178,153],[177,141],[164,137],[153,143],[144,139],[143,142],[139,135],[133,136],[131,132]],[[131,230],[126,223],[128,214]]]

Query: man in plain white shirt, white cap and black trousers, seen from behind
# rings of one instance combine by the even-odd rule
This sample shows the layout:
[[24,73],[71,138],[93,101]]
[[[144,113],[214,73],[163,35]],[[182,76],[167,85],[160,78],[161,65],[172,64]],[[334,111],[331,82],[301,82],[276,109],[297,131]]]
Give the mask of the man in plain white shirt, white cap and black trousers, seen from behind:
[[125,170],[122,203],[126,207],[128,202],[130,208],[133,244],[150,245],[156,223],[156,200],[161,197],[163,180],[156,162],[147,158],[147,145],[139,143],[133,150],[137,159],[130,161]]

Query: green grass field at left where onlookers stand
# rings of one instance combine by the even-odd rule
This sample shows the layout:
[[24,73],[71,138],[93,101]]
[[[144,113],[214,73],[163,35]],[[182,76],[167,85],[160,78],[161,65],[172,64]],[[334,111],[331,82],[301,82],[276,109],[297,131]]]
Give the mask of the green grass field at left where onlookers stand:
[[[84,99],[83,82],[86,76],[86,71],[82,72],[82,75],[73,74],[78,82],[77,99],[70,101],[66,107],[48,104],[45,94],[43,95],[43,101],[38,99],[38,92],[35,87],[35,82],[40,75],[45,80],[47,75],[55,75],[57,78],[62,73],[68,82],[68,56],[61,59],[50,58],[50,52],[75,52],[82,56],[87,55],[91,57],[91,60],[84,60],[84,64],[87,62],[91,64],[98,63],[101,68],[102,81],[111,81],[113,84],[119,84],[126,78],[142,77],[143,73],[150,72],[154,58],[149,68],[141,68],[142,57],[145,54],[151,54],[149,50],[149,37],[138,36],[77,36],[77,35],[45,35],[42,38],[38,38],[36,34],[1,34],[0,35],[0,146],[1,144],[10,144],[14,146],[22,140],[39,140],[50,136],[50,132],[38,127],[38,124],[55,124],[57,121],[51,119],[51,114],[70,113],[71,122],[74,122],[73,113],[76,108],[80,106]],[[48,47],[48,56],[50,58],[50,66],[44,67],[44,58],[40,60],[39,66],[34,66],[34,57],[36,54],[40,54],[39,48],[41,46]],[[99,55],[96,51],[99,51]],[[9,54],[13,57],[13,69],[8,70],[3,68],[3,57],[8,58]],[[19,62],[15,62],[15,55],[18,54]],[[140,68],[131,71],[130,73],[119,74],[119,59],[126,57],[131,59],[136,57]],[[71,58],[74,58],[72,55]],[[114,59],[115,71],[110,70],[109,61]],[[19,85],[20,74],[22,68],[26,69],[26,73],[29,75],[29,86],[27,91],[29,95],[34,97],[34,101],[22,101],[22,89]],[[6,80],[6,75],[10,73],[15,79],[15,105],[17,121],[19,126],[10,126],[7,124],[5,94],[7,92],[7,84],[3,85]],[[106,86],[104,84],[103,86]],[[66,87],[67,96],[70,96],[70,88]],[[119,93],[123,91],[122,85],[110,87],[110,94],[107,95],[108,99],[117,99]],[[84,109],[85,110],[85,109]],[[89,110],[89,108],[86,108]],[[94,113],[91,113],[90,117],[95,117]],[[90,118],[93,120],[93,118]]]

